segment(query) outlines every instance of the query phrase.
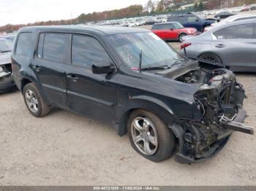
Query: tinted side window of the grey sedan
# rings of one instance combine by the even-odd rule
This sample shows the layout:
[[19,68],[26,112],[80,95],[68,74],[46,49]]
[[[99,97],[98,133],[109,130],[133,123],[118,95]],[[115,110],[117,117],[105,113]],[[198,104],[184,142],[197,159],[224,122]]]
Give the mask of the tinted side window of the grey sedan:
[[243,24],[222,28],[214,33],[217,39],[253,39],[253,25]]

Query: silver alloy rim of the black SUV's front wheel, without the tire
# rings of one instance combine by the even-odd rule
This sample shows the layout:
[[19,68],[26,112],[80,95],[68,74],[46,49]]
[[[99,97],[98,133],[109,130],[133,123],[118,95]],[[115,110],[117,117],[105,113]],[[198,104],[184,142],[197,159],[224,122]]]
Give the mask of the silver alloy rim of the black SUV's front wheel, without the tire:
[[154,155],[157,152],[157,130],[147,117],[136,117],[132,121],[132,140],[144,155]]

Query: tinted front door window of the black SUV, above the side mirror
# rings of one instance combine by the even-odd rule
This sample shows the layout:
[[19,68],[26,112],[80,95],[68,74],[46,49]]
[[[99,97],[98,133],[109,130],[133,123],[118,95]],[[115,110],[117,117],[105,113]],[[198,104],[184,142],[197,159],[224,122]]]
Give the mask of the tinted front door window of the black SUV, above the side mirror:
[[111,63],[110,57],[97,39],[90,36],[72,36],[72,63],[91,68],[94,63]]

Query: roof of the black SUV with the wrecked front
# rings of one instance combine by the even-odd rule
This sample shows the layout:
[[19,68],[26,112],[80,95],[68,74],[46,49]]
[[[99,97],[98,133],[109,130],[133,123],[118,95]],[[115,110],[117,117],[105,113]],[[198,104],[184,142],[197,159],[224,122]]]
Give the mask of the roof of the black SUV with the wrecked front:
[[125,34],[148,32],[143,28],[129,28],[122,26],[29,26],[21,28],[20,31],[80,31],[94,32],[97,34]]

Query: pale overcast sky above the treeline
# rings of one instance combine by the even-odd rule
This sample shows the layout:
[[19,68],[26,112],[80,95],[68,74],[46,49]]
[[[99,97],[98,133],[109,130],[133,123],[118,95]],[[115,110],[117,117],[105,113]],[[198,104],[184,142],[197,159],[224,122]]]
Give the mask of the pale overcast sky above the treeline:
[[0,0],[0,26],[78,17],[82,13],[120,9],[148,0]]

